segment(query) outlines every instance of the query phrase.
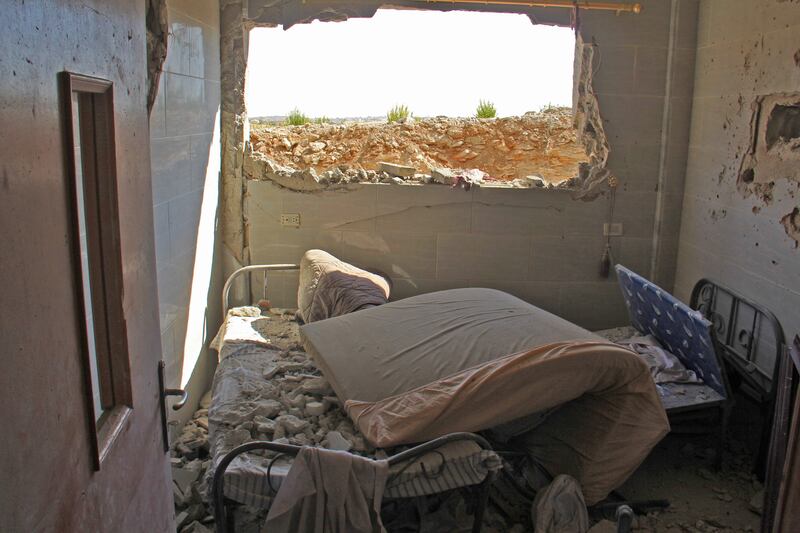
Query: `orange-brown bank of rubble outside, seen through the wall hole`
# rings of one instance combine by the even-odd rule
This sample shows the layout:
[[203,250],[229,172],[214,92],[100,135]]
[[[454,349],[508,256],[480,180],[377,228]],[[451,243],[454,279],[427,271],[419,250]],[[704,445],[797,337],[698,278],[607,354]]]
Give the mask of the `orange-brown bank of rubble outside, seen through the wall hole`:
[[[499,119],[436,117],[405,123],[254,124],[250,155],[284,178],[322,184],[427,182],[568,187],[587,161],[572,110]],[[258,176],[254,176],[258,179]],[[276,180],[277,181],[277,180]]]

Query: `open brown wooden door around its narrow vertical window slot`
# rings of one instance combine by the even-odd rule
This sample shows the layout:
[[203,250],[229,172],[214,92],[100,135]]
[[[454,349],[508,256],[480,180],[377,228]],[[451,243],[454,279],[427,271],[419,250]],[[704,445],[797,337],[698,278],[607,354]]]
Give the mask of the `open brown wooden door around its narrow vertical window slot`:
[[[144,9],[124,0],[0,6],[0,531],[174,529],[158,411]],[[64,70],[113,82],[132,409],[99,470],[87,424]]]

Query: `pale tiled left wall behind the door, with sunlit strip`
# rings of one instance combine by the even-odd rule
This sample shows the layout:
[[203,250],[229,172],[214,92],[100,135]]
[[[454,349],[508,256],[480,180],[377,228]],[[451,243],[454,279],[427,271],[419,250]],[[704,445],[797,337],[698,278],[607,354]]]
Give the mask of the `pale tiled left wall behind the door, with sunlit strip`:
[[[150,115],[162,352],[169,386],[180,387],[188,379],[183,375],[184,356],[199,361],[190,389],[202,394],[213,370],[209,357],[184,354],[184,343],[197,250],[206,250],[216,237],[208,231],[198,234],[198,225],[203,209],[215,209],[208,202],[204,205],[207,183],[213,180],[216,188],[219,180],[220,146],[215,135],[220,106],[219,4],[169,0],[167,8],[167,59]],[[213,262],[213,250],[212,244],[208,257],[197,259]],[[214,276],[215,292],[208,298],[207,310],[212,328],[220,312],[219,275]]]

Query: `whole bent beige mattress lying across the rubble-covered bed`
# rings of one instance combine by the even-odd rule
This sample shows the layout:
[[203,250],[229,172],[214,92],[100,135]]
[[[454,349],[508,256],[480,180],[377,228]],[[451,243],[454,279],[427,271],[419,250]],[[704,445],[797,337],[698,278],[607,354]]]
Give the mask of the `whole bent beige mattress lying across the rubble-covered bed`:
[[602,500],[669,431],[647,365],[511,295],[432,293],[301,328],[350,418],[378,447],[550,414],[519,437]]

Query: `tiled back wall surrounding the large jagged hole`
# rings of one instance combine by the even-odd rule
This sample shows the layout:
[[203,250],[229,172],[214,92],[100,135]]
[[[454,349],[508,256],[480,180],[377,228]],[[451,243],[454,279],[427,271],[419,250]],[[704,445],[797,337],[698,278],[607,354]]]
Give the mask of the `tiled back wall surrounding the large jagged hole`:
[[[384,266],[400,280],[397,295],[475,284],[505,287],[579,324],[602,327],[626,322],[616,281],[598,273],[603,223],[613,220],[625,228],[622,237],[612,238],[614,260],[671,286],[693,80],[680,75],[685,68],[669,67],[694,64],[691,21],[697,0],[646,0],[643,14],[635,17],[581,14],[576,72],[580,96],[588,103],[579,108],[578,123],[601,164],[595,168],[602,170],[593,175],[587,168],[583,175],[592,185],[588,201],[558,190],[383,184],[308,194],[246,179],[245,164],[253,174],[280,175],[263,162],[245,163],[241,76],[249,28],[371,16],[378,5],[251,1],[243,9],[237,0],[223,2],[223,233],[233,258],[226,269],[236,263],[293,262],[305,249],[321,247],[345,260]],[[570,23],[569,10],[516,12],[534,23]],[[429,38],[431,46],[452,46]],[[610,176],[619,183],[613,206],[606,186]],[[300,214],[300,227],[280,226],[282,213]],[[463,250],[469,253],[459,258]],[[283,287],[278,298],[290,304],[296,279],[285,275],[276,281]]]

